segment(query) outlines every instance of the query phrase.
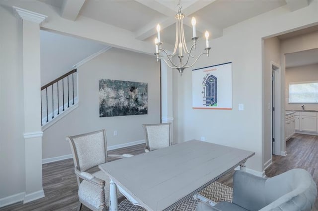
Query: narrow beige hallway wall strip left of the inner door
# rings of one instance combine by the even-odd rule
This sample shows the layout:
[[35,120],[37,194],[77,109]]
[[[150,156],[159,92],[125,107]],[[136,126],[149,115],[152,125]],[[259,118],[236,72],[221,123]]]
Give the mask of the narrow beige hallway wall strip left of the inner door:
[[[280,46],[277,37],[264,39],[263,81],[264,81],[264,144],[263,165],[270,164],[272,159],[272,62],[280,63]],[[267,167],[267,166],[264,166]]]

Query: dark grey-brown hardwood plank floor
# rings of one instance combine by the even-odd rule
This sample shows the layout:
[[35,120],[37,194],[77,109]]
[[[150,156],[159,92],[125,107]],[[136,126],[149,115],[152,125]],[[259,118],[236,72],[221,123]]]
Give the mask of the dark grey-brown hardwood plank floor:
[[[287,156],[273,156],[273,164],[266,169],[266,175],[272,177],[293,168],[304,168],[311,173],[318,184],[318,136],[295,134],[286,143]],[[144,152],[144,144],[112,150],[110,154]],[[113,159],[112,159],[113,160]],[[112,161],[111,159],[109,161]],[[91,171],[98,170],[98,168]],[[228,173],[218,180],[224,185],[233,186],[232,175]],[[72,159],[43,165],[43,189],[45,197],[23,204],[15,203],[0,211],[75,211],[77,209],[77,183]],[[85,206],[82,211],[89,211]],[[318,197],[314,211],[318,211]]]

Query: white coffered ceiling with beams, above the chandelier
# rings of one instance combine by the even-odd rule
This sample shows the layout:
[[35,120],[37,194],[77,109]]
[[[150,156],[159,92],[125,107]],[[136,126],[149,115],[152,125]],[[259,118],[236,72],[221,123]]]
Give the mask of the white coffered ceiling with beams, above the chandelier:
[[[156,24],[161,25],[161,41],[174,45],[178,0],[38,0],[59,8],[61,17],[76,21],[84,16],[135,35],[135,39],[153,42]],[[191,41],[191,18],[197,19],[197,34],[205,30],[212,38],[238,22],[288,5],[295,10],[308,5],[307,0],[181,0],[185,14],[186,40]],[[301,3],[299,3],[301,2]],[[288,7],[287,7],[288,8]]]

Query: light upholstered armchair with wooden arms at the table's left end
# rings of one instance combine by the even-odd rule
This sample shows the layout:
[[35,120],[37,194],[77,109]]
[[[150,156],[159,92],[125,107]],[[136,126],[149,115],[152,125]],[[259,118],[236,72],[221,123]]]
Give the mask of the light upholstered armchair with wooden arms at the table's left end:
[[[109,177],[100,171],[88,173],[86,170],[105,163],[108,157],[124,158],[132,155],[108,155],[105,130],[94,131],[77,136],[68,136],[74,171],[78,182],[78,211],[82,204],[93,211],[105,211],[109,208]],[[117,191],[118,202],[125,197]]]

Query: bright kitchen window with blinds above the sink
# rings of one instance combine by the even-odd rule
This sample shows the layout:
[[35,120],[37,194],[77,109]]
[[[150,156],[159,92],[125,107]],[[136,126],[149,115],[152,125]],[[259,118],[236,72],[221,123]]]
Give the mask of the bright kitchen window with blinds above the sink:
[[318,103],[318,81],[290,83],[289,103]]

